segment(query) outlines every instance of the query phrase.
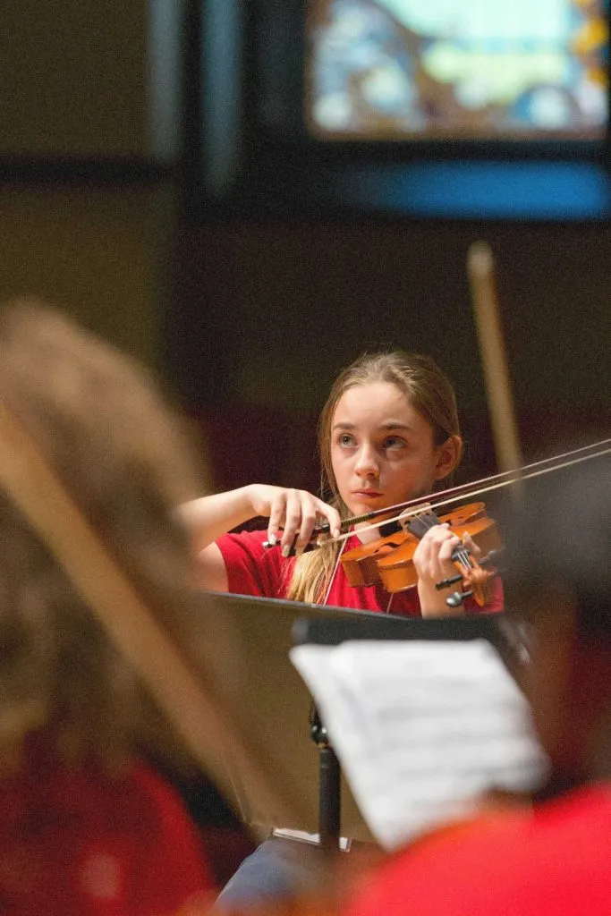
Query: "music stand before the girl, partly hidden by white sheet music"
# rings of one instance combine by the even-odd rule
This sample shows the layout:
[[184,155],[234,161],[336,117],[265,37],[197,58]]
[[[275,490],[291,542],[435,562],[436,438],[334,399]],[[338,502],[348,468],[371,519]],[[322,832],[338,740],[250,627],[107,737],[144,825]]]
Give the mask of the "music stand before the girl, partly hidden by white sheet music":
[[[469,634],[461,638],[492,638],[500,616],[495,615],[494,622],[484,617],[459,618],[455,623],[449,618],[423,621],[278,599],[202,593],[194,621],[202,677],[244,737],[249,753],[273,772],[278,799],[286,800],[294,812],[291,822],[284,823],[282,814],[258,797],[241,761],[225,759],[219,788],[244,823],[259,837],[273,827],[320,832],[320,760],[308,725],[312,698],[289,660],[294,634],[319,641],[320,634],[330,638],[333,632],[333,638],[343,641],[348,637],[417,638],[417,633],[418,638],[434,638],[432,633],[453,638],[451,634],[460,630]],[[316,627],[322,628],[316,631]],[[423,635],[425,632],[430,635]],[[341,833],[373,842],[343,777],[341,787]]]

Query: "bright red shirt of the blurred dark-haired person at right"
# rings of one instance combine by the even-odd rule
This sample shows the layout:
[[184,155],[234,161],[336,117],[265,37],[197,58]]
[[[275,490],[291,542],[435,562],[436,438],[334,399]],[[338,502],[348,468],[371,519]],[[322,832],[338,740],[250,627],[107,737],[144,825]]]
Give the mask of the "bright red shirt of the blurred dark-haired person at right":
[[611,787],[432,834],[372,872],[343,916],[608,916]]

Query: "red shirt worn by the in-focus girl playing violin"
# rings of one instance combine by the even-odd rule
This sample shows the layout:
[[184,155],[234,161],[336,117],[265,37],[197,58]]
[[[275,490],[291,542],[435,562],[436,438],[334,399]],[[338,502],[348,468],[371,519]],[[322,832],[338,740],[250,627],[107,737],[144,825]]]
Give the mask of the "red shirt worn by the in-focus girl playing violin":
[[[278,548],[266,550],[263,547],[264,540],[267,540],[267,531],[225,534],[216,541],[223,554],[229,592],[266,598],[286,598],[295,559],[283,557]],[[360,541],[353,536],[347,540],[345,550],[352,550],[359,544]],[[494,596],[489,605],[480,608],[475,601],[467,600],[466,610],[469,613],[502,610],[503,586],[500,579],[496,578],[494,585]],[[354,607],[360,611],[420,616],[416,588],[389,594],[381,585],[354,587],[348,583],[341,563],[333,576],[331,592],[325,604],[331,607]]]

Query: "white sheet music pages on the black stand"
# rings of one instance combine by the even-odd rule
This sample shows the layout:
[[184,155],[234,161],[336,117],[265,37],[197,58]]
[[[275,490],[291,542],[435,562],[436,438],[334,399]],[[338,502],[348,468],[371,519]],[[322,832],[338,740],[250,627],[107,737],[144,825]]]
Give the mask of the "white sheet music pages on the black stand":
[[495,649],[386,640],[290,651],[380,845],[529,791],[547,768],[529,705]]

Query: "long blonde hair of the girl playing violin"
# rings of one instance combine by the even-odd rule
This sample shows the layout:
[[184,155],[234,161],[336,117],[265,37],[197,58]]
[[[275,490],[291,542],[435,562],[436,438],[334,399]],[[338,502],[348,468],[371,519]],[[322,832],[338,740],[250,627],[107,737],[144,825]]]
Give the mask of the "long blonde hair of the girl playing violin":
[[[360,356],[335,379],[318,422],[321,497],[338,508],[344,517],[350,513],[339,495],[331,460],[333,414],[348,388],[373,382],[387,382],[398,387],[430,424],[435,445],[442,445],[450,436],[460,437],[453,385],[430,356],[401,350]],[[450,477],[446,477],[437,485],[443,487],[450,482]],[[293,568],[287,592],[289,599],[319,604],[324,601],[340,550],[341,544],[335,543],[302,554]]]

